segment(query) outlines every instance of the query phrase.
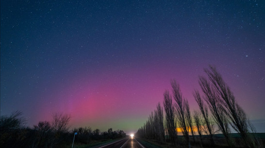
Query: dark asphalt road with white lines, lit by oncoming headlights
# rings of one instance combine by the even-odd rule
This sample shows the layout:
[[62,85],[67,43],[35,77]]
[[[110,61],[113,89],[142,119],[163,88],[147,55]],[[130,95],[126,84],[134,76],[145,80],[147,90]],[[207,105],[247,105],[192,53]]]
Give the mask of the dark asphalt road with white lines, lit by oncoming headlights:
[[115,143],[111,143],[99,148],[145,148],[139,144],[135,138],[126,138]]

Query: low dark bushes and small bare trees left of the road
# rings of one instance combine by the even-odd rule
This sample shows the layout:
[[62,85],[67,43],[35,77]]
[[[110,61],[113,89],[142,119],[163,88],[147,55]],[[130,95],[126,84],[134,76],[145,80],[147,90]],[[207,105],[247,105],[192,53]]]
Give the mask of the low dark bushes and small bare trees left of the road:
[[90,127],[69,130],[70,115],[55,113],[52,121],[39,121],[33,128],[25,126],[22,112],[17,111],[10,116],[0,116],[0,148],[66,148],[73,142],[89,144],[92,140],[106,140],[125,137],[122,130],[106,132],[99,129],[92,131]]

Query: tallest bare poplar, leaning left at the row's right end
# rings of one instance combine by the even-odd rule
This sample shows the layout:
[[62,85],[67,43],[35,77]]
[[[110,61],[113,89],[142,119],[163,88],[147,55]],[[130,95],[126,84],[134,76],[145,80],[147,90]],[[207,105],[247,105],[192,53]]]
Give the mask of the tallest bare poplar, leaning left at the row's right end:
[[248,136],[248,118],[243,109],[237,104],[230,87],[224,82],[214,66],[209,66],[209,69],[204,69],[204,71],[209,81],[213,84],[216,93],[220,96],[219,101],[226,109],[226,114],[232,122],[233,129],[240,132],[242,139],[248,147],[253,148],[253,143],[249,140]]

